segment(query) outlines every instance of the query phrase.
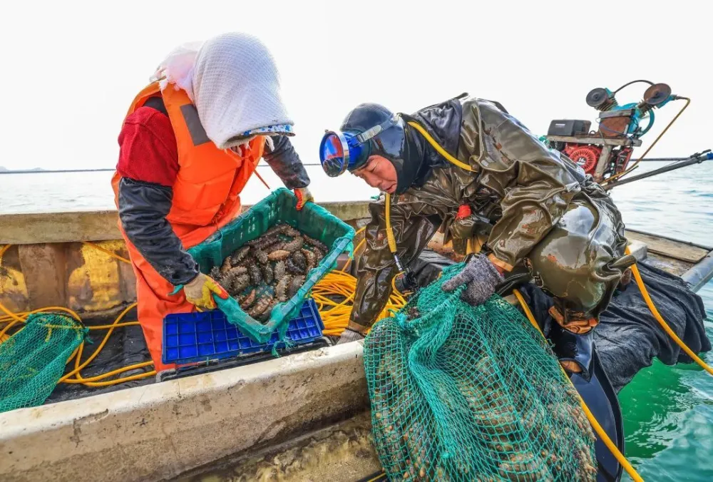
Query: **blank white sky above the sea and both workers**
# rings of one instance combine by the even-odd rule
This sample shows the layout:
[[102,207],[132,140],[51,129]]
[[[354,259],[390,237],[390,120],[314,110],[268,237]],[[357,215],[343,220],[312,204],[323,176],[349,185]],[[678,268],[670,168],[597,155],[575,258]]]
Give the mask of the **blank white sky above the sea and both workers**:
[[[665,82],[692,105],[651,155],[713,148],[713,7],[699,1],[7,1],[0,13],[0,165],[111,168],[130,101],[174,46],[246,31],[277,59],[294,144],[357,103],[412,112],[463,91],[538,134],[596,113],[591,88]],[[418,5],[418,6],[416,6]],[[640,99],[641,86],[620,93]],[[677,111],[660,111],[649,142]],[[639,154],[643,150],[638,151]]]

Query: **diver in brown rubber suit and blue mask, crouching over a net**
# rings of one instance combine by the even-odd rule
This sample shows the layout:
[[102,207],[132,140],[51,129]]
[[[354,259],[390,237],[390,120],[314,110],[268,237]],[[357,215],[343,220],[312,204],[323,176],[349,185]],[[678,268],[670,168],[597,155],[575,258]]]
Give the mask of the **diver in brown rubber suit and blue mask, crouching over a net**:
[[456,251],[478,251],[444,289],[466,284],[463,299],[477,305],[511,273],[528,272],[554,299],[550,339],[560,362],[588,377],[593,329],[634,258],[624,255],[620,212],[578,165],[498,103],[466,95],[412,116],[361,104],[324,135],[320,160],[327,175],[348,170],[391,196],[396,239],[392,253],[385,198],[372,202],[354,309],[339,343],[364,337],[401,262],[408,266],[440,230]]

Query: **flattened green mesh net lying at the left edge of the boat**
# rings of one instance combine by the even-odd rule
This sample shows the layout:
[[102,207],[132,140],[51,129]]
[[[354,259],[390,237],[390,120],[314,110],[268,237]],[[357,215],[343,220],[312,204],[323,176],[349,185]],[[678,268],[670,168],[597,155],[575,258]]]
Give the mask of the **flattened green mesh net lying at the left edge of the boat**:
[[0,344],[0,412],[43,404],[87,332],[62,314],[31,314]]

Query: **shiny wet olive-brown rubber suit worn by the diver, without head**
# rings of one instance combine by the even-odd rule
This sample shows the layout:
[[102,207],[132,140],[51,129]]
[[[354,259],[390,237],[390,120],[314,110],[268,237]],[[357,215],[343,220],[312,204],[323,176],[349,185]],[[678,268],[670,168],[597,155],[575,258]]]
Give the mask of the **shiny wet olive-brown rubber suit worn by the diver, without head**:
[[[461,96],[401,118],[408,155],[391,160],[399,175],[396,192],[402,193],[391,202],[401,261],[414,260],[436,230],[461,251],[466,241],[481,240],[493,264],[530,271],[555,297],[553,313],[571,332],[590,331],[630,262],[620,213],[605,191],[496,103]],[[471,170],[448,163],[409,121]],[[348,123],[349,117],[342,130]],[[376,321],[397,274],[384,204],[369,205],[366,248],[357,266],[349,328],[362,333]],[[470,206],[471,215],[458,217],[461,205]]]

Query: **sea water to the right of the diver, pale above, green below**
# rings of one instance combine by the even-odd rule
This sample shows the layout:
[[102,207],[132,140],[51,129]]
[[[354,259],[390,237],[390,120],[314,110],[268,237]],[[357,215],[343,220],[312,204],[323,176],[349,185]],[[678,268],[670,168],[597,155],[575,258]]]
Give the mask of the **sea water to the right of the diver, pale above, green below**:
[[[640,171],[660,165],[645,163]],[[664,176],[614,190],[627,226],[713,245],[713,163]],[[698,294],[713,337],[713,283]],[[713,366],[713,353],[702,358]],[[626,456],[645,481],[713,481],[713,376],[695,364],[655,361],[619,399]]]

